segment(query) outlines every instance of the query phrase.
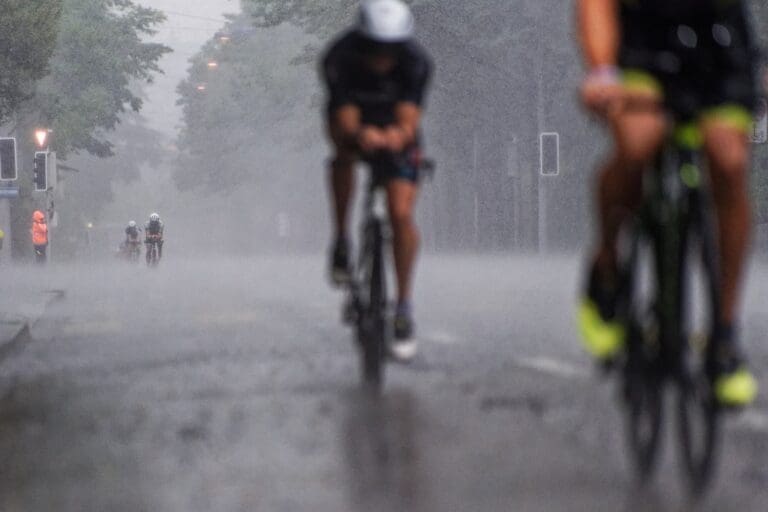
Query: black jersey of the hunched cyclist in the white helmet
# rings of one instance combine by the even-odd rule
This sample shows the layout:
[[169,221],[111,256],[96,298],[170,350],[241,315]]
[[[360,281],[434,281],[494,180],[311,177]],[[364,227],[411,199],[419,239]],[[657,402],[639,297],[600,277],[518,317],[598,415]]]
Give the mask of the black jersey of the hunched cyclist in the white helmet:
[[365,65],[365,39],[356,31],[334,41],[322,60],[322,75],[328,92],[328,112],[356,105],[362,122],[386,126],[394,122],[395,105],[410,102],[421,106],[432,72],[432,60],[418,43],[399,46],[398,63],[385,75]]

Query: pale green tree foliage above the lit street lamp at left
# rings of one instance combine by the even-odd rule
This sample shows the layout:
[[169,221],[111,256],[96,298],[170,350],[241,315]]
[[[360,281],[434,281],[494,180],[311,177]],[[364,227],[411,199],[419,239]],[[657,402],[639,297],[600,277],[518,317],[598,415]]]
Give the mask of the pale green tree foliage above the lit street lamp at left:
[[170,49],[145,42],[164,15],[130,0],[64,0],[51,73],[40,82],[35,110],[49,123],[60,153],[113,154],[108,132],[138,112],[136,85],[161,72]]

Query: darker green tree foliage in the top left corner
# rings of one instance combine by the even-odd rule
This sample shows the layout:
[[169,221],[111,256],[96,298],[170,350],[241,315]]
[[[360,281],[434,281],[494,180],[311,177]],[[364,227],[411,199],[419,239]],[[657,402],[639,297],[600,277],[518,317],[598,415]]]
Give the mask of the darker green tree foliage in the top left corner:
[[16,112],[48,70],[62,0],[5,0],[0,13],[0,124]]

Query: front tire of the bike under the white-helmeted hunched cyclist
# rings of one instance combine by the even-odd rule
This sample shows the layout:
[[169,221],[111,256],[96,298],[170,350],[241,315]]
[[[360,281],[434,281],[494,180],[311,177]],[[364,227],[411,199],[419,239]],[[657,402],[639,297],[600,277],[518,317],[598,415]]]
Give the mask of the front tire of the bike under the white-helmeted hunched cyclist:
[[383,233],[378,220],[371,221],[366,237],[370,268],[366,276],[368,296],[361,329],[363,380],[374,390],[380,390],[384,384],[386,360],[386,276]]

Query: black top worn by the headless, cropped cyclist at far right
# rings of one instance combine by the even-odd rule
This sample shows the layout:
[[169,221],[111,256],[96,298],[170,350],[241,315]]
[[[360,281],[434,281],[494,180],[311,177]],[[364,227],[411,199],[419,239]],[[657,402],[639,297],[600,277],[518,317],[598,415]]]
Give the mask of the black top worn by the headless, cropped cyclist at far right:
[[759,52],[741,0],[622,0],[620,15],[619,65],[655,76],[674,113],[754,108]]

